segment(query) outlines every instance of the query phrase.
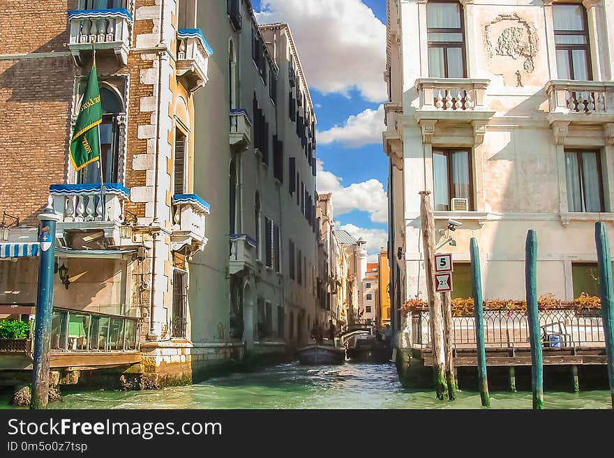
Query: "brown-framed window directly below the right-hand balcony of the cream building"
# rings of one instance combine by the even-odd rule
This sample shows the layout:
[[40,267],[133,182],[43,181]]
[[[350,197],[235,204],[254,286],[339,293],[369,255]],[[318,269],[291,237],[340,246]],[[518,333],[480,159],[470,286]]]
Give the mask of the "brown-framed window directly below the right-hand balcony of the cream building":
[[569,211],[604,211],[599,151],[565,151],[565,176]]

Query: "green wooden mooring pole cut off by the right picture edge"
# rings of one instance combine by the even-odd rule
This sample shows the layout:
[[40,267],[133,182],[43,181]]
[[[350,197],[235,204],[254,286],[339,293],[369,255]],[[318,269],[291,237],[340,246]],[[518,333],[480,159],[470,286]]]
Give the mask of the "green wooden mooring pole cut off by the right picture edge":
[[599,266],[599,284],[601,287],[601,319],[604,322],[606,338],[606,355],[608,358],[608,380],[614,409],[614,289],[612,287],[612,258],[608,231],[603,222],[595,223],[595,245],[597,245],[597,263]]

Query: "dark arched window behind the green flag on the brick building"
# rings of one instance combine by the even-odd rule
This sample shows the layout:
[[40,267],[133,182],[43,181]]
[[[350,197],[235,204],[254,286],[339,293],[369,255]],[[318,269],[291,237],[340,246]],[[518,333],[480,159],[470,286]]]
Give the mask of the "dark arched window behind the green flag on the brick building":
[[123,103],[119,94],[100,86],[100,102],[103,105],[103,122],[100,124],[100,161],[92,162],[77,172],[77,183],[100,183],[103,167],[105,183],[119,183],[119,117],[123,114]]

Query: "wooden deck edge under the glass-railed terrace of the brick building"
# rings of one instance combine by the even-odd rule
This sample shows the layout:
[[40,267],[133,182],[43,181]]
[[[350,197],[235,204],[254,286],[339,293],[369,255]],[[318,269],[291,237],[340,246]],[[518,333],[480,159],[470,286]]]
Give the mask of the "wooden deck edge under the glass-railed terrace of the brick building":
[[[141,362],[141,353],[130,352],[100,352],[79,353],[54,351],[50,353],[50,369],[87,370],[104,369]],[[0,353],[0,371],[2,370],[32,370],[32,357],[28,353]]]

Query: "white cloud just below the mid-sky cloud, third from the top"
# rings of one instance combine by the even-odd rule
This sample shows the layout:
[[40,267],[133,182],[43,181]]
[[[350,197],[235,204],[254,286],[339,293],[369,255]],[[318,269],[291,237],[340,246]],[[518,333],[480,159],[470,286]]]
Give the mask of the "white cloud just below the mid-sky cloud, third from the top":
[[353,210],[366,211],[373,222],[388,222],[388,197],[381,181],[372,178],[344,187],[340,178],[317,161],[317,192],[332,192],[334,216]]

